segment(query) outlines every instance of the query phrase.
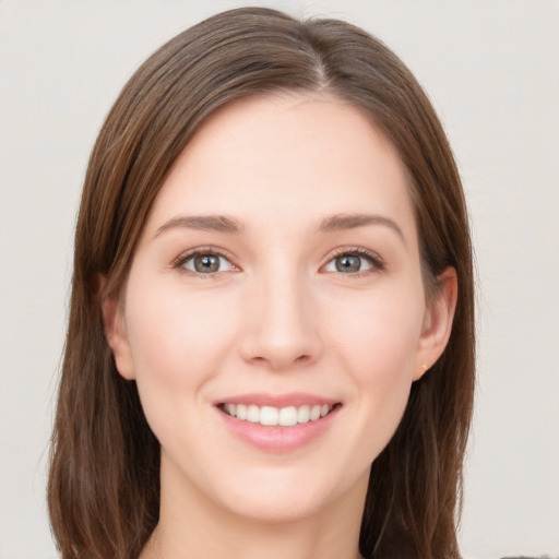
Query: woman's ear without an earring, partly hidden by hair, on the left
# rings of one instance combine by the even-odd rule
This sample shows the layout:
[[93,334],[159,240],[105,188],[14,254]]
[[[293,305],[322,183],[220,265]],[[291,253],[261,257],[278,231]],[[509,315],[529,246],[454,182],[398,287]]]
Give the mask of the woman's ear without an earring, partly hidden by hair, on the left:
[[135,378],[132,350],[128,342],[124,320],[124,305],[118,297],[103,300],[103,323],[107,343],[115,356],[115,364],[121,377],[127,380]]

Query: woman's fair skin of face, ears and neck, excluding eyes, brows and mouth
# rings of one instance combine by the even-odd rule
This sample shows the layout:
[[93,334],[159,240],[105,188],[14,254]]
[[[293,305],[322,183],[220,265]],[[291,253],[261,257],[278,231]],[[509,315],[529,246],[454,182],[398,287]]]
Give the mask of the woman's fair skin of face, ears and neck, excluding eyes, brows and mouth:
[[[320,228],[341,214],[381,219]],[[218,271],[197,272],[193,249],[222,254]],[[341,254],[357,270],[338,271]],[[450,334],[454,271],[438,283],[428,305],[405,169],[357,109],[293,94],[215,112],[162,187],[122,293],[104,304],[117,368],[162,444],[160,521],[142,559],[358,557],[370,464]],[[215,406],[253,392],[341,405],[308,444],[264,451]]]

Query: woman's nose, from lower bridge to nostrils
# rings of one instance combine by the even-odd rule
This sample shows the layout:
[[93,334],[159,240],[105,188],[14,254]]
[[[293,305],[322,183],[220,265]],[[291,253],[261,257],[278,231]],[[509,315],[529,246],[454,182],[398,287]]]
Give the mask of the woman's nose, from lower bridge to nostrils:
[[275,274],[252,286],[248,328],[241,341],[246,361],[282,371],[316,362],[322,354],[312,289],[296,274]]

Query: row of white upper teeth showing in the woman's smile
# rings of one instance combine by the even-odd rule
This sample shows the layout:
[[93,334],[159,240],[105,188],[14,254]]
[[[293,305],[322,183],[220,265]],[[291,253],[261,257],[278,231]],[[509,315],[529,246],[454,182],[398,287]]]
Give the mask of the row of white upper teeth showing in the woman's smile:
[[272,406],[257,406],[245,404],[225,404],[224,411],[237,419],[250,421],[252,424],[260,424],[266,426],[281,426],[290,427],[297,424],[306,424],[308,421],[316,421],[324,417],[332,411],[332,406],[328,404],[316,406],[288,406],[288,407],[272,407]]

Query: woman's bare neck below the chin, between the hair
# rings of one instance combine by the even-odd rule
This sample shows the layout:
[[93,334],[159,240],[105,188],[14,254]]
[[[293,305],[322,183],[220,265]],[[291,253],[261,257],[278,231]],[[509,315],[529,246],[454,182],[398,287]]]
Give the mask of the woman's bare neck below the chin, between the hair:
[[[261,520],[224,510],[192,486],[166,483],[159,523],[140,559],[358,559],[367,479],[305,518]],[[173,486],[173,490],[171,490]]]

